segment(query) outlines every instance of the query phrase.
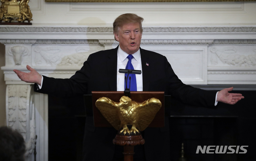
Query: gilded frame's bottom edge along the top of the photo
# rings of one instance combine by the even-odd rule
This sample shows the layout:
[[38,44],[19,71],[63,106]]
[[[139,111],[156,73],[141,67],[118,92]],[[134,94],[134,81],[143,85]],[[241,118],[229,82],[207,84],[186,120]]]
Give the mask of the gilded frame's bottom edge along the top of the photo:
[[45,2],[248,2],[256,0],[45,0]]

